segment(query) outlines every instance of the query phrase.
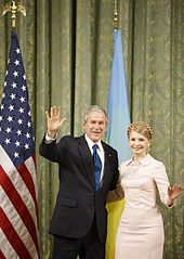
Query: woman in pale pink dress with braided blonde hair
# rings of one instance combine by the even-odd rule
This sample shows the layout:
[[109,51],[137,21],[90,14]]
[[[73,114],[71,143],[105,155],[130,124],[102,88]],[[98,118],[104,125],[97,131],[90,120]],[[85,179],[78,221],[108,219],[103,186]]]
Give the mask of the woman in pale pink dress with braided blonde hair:
[[[126,198],[117,237],[116,259],[161,259],[165,242],[163,222],[156,204],[156,192],[168,207],[182,193],[180,185],[170,187],[165,165],[147,152],[153,130],[144,121],[128,128],[133,157],[120,165],[120,185],[108,195],[108,202]],[[122,191],[123,190],[123,191]]]

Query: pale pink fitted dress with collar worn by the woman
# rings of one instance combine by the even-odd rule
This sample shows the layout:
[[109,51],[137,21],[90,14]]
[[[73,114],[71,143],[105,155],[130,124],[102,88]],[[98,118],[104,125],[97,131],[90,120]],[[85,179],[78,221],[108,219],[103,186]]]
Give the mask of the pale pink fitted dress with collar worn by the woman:
[[156,191],[169,204],[169,181],[161,161],[146,155],[139,163],[128,160],[120,166],[121,186],[126,207],[117,237],[116,259],[161,259],[163,222],[156,205]]

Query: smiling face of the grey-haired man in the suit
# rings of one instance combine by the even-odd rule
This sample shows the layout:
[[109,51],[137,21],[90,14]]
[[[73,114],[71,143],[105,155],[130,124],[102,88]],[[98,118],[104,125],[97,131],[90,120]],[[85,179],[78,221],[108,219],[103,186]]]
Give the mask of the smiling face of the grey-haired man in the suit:
[[83,122],[83,129],[93,142],[100,141],[107,128],[107,118],[103,112],[90,112],[88,119]]

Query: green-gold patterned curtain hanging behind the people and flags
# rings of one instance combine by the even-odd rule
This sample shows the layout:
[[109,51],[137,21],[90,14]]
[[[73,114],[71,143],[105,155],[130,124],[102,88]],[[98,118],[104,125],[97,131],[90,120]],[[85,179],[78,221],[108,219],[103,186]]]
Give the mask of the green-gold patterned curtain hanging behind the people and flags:
[[[1,1],[0,10],[5,2]],[[51,258],[49,222],[57,193],[57,166],[38,154],[44,112],[61,105],[68,119],[61,134],[81,134],[87,105],[107,107],[113,56],[114,0],[24,0],[17,35],[26,69],[36,133],[42,258]],[[152,154],[171,181],[184,185],[184,1],[120,0],[127,87],[132,120],[155,130]],[[10,15],[0,20],[0,94],[10,48]],[[123,146],[122,146],[123,148]],[[184,198],[168,210],[165,259],[184,258]]]

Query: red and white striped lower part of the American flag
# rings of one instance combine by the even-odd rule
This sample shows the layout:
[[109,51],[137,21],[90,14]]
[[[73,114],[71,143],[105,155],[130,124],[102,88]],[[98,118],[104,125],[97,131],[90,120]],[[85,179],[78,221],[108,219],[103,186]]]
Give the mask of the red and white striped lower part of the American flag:
[[34,157],[15,168],[0,145],[0,258],[39,258]]

